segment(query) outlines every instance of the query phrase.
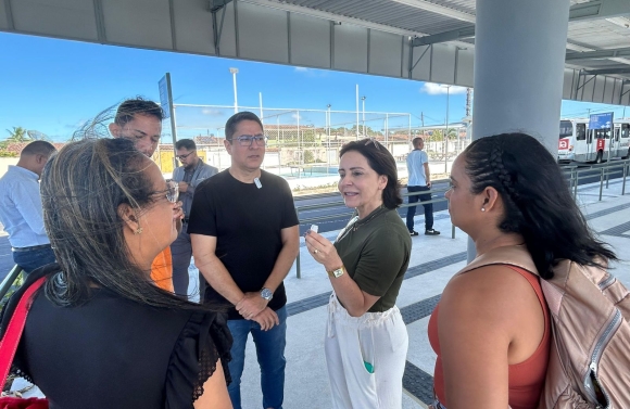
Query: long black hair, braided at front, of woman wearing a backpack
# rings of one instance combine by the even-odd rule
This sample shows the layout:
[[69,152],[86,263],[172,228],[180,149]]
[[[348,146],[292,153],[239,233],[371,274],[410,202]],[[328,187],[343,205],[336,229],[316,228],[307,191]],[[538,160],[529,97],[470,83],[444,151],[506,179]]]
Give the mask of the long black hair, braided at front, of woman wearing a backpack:
[[617,259],[604,242],[595,239],[565,177],[552,154],[525,133],[481,138],[463,152],[470,192],[494,188],[505,204],[499,222],[503,232],[518,233],[543,279],[553,278],[562,259],[605,267]]

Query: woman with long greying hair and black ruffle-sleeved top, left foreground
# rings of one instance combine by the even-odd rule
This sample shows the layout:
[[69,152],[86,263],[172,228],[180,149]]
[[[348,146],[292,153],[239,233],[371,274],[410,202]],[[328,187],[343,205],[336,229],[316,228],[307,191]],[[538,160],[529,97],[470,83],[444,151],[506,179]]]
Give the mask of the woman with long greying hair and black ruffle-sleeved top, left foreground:
[[177,189],[126,139],[73,142],[41,179],[58,264],[41,277],[14,366],[51,408],[231,408],[225,317],[151,280],[177,237]]

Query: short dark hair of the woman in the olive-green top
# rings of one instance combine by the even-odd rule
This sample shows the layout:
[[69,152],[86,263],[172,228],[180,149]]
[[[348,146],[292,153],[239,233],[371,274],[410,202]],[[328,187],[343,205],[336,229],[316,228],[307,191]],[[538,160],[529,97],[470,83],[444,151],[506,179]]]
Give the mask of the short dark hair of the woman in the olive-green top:
[[366,138],[360,141],[348,142],[341,146],[339,157],[344,153],[355,151],[362,154],[369,165],[379,176],[387,176],[387,184],[382,190],[382,204],[387,208],[396,208],[403,203],[401,196],[401,182],[396,162],[392,154],[378,143],[376,139]]

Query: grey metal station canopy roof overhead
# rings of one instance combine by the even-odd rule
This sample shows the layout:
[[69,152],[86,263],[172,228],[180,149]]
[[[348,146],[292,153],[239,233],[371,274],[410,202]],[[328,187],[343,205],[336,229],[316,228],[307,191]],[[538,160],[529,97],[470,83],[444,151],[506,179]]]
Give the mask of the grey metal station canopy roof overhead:
[[[3,0],[0,30],[471,87],[475,4]],[[630,1],[570,4],[563,98],[630,105]]]

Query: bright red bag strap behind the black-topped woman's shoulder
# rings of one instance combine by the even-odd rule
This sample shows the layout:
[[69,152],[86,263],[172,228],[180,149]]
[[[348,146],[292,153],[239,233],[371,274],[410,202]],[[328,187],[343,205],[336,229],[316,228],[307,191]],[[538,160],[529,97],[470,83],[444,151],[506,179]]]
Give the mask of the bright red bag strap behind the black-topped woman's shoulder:
[[28,309],[30,308],[33,294],[39,290],[45,281],[46,277],[42,277],[34,282],[28,289],[26,289],[22,295],[22,298],[20,298],[20,302],[17,303],[17,307],[15,307],[15,311],[13,311],[13,317],[11,317],[11,321],[9,321],[4,337],[2,337],[0,341],[0,381],[2,382],[1,388],[3,388],[4,383],[7,383],[11,363],[15,357],[17,345],[20,345],[20,338],[22,337],[22,332],[24,331],[24,325],[26,324],[26,316],[28,315]]

